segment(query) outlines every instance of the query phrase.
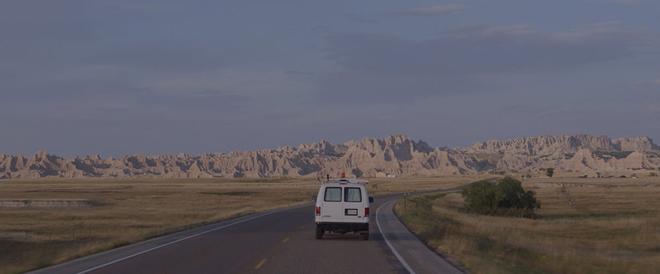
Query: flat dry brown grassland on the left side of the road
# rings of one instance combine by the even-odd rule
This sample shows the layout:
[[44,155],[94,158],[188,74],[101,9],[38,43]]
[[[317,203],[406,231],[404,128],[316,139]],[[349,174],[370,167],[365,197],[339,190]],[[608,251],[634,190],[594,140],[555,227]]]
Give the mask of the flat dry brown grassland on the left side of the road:
[[[469,178],[370,180],[371,195]],[[195,225],[311,202],[315,180],[40,179],[0,182],[0,273],[19,273]],[[31,207],[16,207],[29,201]],[[311,216],[312,213],[310,213]]]

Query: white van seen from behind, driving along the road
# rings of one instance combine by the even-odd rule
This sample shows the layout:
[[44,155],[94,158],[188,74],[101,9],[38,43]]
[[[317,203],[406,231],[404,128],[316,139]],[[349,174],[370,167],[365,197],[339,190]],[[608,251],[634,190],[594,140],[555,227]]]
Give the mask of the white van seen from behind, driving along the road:
[[369,197],[364,182],[341,179],[321,185],[316,196],[316,238],[325,232],[360,233],[369,239]]

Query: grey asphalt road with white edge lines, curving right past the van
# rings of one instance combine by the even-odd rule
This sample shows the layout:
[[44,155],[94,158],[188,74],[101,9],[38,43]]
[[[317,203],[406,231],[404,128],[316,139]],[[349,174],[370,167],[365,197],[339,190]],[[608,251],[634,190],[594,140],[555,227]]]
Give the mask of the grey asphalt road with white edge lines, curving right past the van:
[[[34,273],[461,273],[392,212],[372,204],[370,240],[314,238],[311,205],[207,225],[76,259]],[[375,214],[373,214],[375,213]]]

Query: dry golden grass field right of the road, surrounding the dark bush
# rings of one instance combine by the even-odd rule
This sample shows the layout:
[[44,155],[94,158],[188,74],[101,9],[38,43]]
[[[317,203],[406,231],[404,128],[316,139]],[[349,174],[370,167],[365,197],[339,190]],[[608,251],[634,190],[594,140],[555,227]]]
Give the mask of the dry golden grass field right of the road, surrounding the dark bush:
[[396,206],[431,248],[473,273],[658,273],[660,179],[534,179],[536,219],[466,213],[460,193]]

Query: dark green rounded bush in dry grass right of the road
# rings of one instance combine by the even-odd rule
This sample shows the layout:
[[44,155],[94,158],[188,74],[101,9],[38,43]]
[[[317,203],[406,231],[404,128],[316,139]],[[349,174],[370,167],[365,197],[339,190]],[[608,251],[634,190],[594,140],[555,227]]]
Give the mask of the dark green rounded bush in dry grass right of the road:
[[497,183],[480,181],[463,190],[465,207],[479,214],[506,214],[533,216],[534,209],[541,208],[533,191],[525,191],[522,183],[505,177]]

